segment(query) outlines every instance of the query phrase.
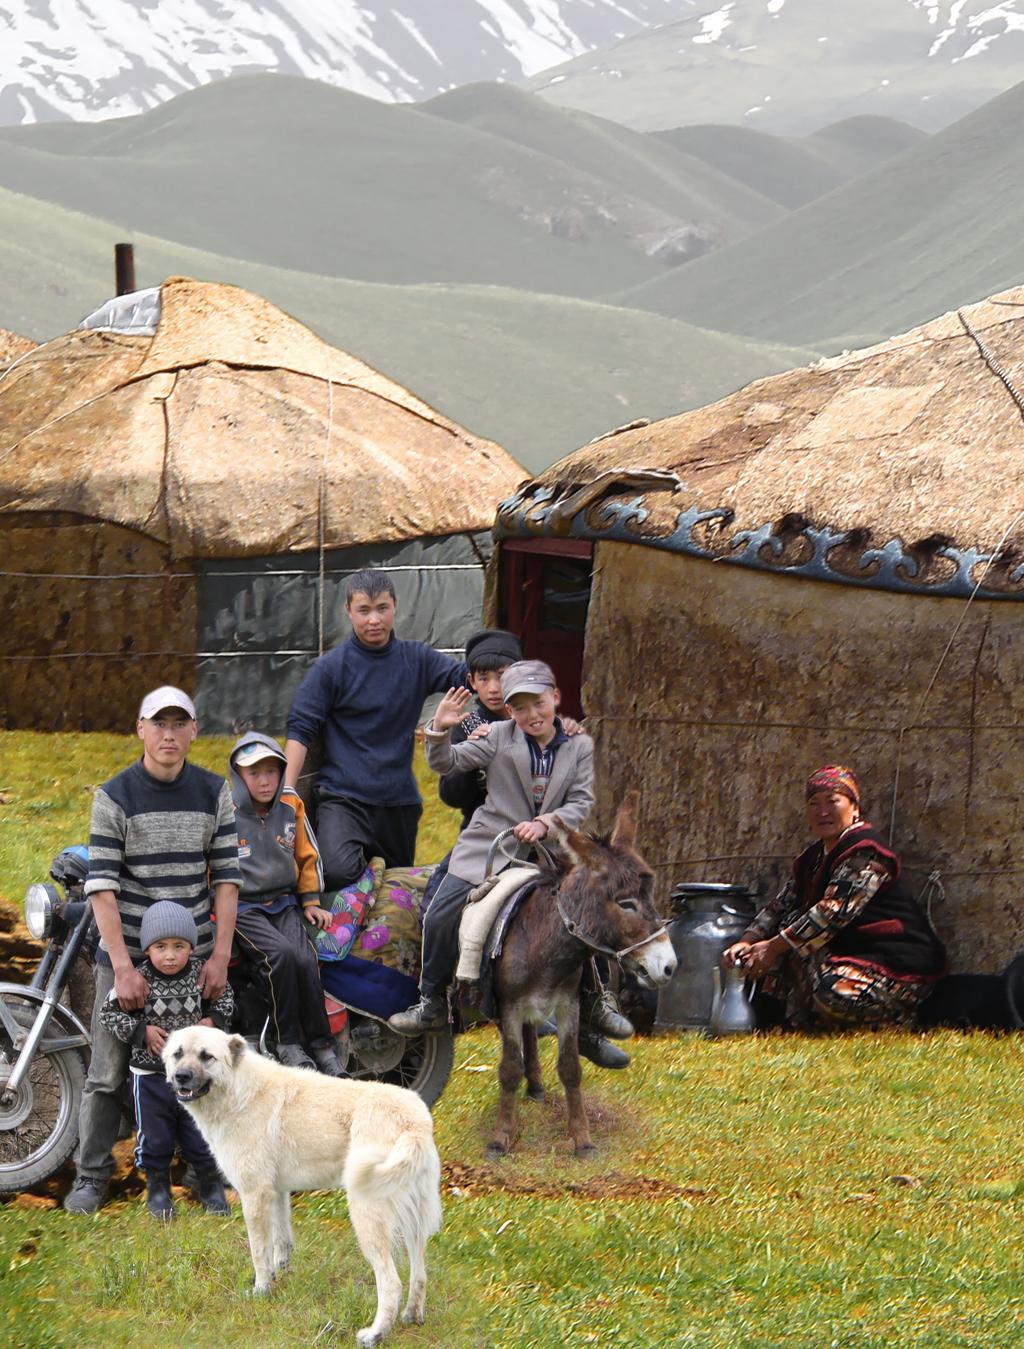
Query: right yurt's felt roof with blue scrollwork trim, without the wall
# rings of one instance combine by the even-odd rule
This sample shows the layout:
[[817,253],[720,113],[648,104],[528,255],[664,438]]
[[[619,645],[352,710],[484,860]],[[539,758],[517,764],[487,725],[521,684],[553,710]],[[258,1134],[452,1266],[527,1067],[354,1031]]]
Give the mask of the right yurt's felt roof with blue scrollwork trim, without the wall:
[[600,437],[503,502],[496,533],[1024,598],[1024,286]]

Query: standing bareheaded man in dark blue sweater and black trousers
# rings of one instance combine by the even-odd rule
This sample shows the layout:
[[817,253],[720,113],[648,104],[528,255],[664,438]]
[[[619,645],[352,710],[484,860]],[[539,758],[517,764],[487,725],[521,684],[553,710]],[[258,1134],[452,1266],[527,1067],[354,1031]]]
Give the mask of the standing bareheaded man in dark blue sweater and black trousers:
[[285,782],[298,784],[317,737],[317,838],[328,890],[352,885],[371,857],[411,866],[422,813],[413,735],[424,700],[465,683],[465,665],[394,634],[395,588],[363,571],[345,587],[352,635],[321,656],[295,692],[287,719]]

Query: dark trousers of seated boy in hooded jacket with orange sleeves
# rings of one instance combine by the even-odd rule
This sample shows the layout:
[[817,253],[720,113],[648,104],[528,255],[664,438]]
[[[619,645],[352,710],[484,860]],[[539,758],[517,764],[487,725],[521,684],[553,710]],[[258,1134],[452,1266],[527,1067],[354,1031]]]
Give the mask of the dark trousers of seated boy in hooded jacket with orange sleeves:
[[240,912],[235,942],[270,1006],[273,1039],[278,1044],[329,1040],[317,951],[298,907],[290,904],[281,913]]

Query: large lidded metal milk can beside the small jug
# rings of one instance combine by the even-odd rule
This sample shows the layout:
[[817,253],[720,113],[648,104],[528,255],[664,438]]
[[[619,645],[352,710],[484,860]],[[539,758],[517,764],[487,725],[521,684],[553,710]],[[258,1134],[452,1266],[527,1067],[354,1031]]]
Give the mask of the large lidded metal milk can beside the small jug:
[[691,881],[677,885],[669,902],[679,913],[668,924],[679,969],[658,993],[654,1024],[703,1029],[711,1020],[718,962],[754,916],[753,896],[743,885]]

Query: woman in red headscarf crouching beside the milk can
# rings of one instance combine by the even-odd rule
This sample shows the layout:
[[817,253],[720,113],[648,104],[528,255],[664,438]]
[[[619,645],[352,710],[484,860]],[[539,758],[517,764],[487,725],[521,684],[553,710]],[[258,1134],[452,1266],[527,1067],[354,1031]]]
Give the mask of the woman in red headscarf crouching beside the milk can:
[[762,979],[791,1025],[909,1021],[946,971],[943,944],[899,857],[861,817],[853,772],[819,769],[805,797],[816,842],[722,963]]

